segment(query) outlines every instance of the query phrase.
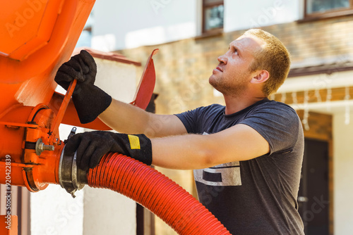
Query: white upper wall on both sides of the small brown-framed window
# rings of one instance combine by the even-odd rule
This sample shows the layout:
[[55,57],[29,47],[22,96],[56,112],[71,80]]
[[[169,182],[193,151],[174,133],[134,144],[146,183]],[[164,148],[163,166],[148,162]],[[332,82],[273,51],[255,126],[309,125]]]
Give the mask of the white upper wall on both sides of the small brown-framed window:
[[[225,0],[224,30],[232,32],[298,20],[300,3]],[[101,51],[163,44],[202,34],[201,0],[101,0],[96,1],[93,12],[92,48]]]

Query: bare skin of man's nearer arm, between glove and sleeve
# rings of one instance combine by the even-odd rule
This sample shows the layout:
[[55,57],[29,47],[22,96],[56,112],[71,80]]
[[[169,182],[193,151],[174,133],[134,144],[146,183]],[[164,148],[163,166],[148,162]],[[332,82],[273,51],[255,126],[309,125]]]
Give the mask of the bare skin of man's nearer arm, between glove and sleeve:
[[242,124],[215,134],[169,136],[151,142],[152,165],[179,170],[250,160],[270,152],[268,141]]

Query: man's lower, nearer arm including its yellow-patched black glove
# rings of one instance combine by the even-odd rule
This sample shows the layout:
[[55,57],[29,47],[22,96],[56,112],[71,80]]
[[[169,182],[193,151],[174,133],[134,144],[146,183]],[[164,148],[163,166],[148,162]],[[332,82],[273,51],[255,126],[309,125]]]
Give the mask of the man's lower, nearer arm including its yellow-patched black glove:
[[256,158],[269,153],[270,146],[255,129],[239,124],[215,134],[155,139],[145,134],[84,132],[68,139],[65,149],[68,155],[77,152],[78,167],[83,170],[98,165],[109,152],[122,153],[148,165],[191,170]]

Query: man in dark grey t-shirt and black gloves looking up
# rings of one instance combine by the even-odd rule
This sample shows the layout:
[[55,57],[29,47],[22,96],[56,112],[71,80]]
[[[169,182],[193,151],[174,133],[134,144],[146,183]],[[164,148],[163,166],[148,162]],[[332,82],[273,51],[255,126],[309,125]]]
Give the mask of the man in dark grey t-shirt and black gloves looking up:
[[[95,167],[109,151],[146,164],[193,169],[199,201],[232,234],[304,234],[297,212],[301,122],[292,108],[267,98],[287,77],[289,53],[272,34],[249,30],[218,61],[209,82],[223,94],[225,106],[156,115],[112,100],[95,87],[95,63],[81,51],[59,68],[56,81],[67,87],[78,79],[73,101],[81,121],[99,115],[126,134],[77,134],[66,149],[77,150],[83,170]],[[160,128],[154,129],[156,124]],[[139,148],[133,147],[136,140]]]

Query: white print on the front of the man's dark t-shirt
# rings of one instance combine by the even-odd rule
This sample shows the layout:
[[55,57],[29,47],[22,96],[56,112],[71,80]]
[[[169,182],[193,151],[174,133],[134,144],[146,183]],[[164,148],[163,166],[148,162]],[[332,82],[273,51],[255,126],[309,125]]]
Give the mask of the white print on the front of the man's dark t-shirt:
[[[203,132],[203,134],[208,134]],[[195,181],[211,186],[240,186],[240,163],[224,163],[205,169],[193,170]]]

